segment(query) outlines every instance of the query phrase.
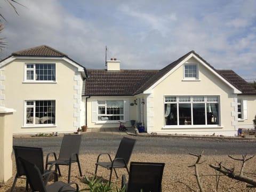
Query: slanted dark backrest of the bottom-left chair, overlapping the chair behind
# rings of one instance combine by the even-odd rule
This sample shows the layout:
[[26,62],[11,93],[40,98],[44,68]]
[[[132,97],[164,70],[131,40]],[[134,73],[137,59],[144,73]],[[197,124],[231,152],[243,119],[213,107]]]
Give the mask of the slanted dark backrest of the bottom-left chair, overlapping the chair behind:
[[26,172],[26,177],[32,191],[46,192],[43,177],[38,167],[24,158],[19,157],[18,159]]

